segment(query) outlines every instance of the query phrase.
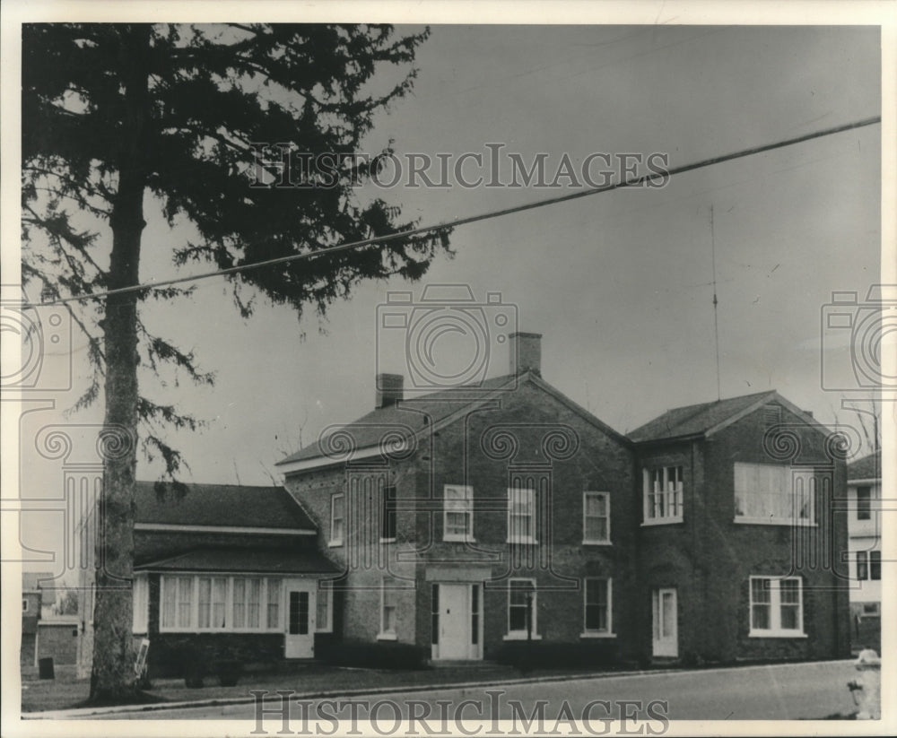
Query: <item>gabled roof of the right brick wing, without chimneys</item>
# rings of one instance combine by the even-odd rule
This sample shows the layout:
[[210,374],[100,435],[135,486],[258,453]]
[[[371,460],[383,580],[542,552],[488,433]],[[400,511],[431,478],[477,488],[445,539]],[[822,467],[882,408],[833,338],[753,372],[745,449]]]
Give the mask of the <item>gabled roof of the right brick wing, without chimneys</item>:
[[790,412],[794,412],[806,421],[808,425],[826,430],[820,422],[814,421],[811,415],[788,402],[775,390],[769,390],[768,392],[755,392],[753,395],[728,397],[725,400],[717,400],[712,403],[675,407],[672,410],[667,410],[653,421],[649,421],[632,430],[629,433],[629,438],[636,443],[647,443],[672,438],[710,436],[716,431],[727,427],[730,423],[740,420],[745,415],[757,410],[762,405],[771,402],[780,404]]

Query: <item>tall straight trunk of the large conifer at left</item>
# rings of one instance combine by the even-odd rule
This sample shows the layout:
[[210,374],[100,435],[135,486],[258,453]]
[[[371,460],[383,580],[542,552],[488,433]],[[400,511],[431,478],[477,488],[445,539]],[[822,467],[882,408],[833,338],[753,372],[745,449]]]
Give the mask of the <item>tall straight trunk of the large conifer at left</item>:
[[[109,289],[139,283],[144,230],[144,126],[148,114],[149,26],[122,29],[120,55],[125,111],[118,167],[118,194],[112,208]],[[94,607],[92,702],[126,702],[136,692],[132,622],[134,495],[137,427],[136,292],[106,300],[103,338],[106,353],[104,432],[111,445],[104,454],[97,542]]]

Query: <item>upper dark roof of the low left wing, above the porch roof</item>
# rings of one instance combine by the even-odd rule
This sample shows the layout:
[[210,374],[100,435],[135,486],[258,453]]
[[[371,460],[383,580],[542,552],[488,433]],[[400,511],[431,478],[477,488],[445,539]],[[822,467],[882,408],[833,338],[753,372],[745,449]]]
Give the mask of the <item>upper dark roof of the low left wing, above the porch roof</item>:
[[154,482],[137,482],[135,504],[135,523],[143,525],[315,529],[283,487],[187,484],[183,496],[169,490],[160,497]]

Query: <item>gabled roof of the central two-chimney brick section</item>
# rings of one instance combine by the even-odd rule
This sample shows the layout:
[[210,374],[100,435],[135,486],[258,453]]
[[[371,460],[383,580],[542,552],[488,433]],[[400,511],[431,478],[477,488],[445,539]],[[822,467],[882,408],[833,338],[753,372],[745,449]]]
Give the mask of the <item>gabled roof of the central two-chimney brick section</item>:
[[[526,382],[552,395],[562,404],[566,404],[570,410],[577,412],[586,421],[605,433],[614,436],[622,443],[629,443],[629,439],[623,434],[599,421],[592,413],[574,403],[544,379],[527,371],[519,375],[506,374],[486,379],[475,386],[458,386],[440,390],[403,400],[398,404],[377,408],[363,415],[357,421],[337,426],[335,429],[337,432],[334,434],[325,436],[291,456],[287,456],[277,462],[277,465],[291,465],[314,459],[333,459],[334,463],[341,462],[348,450],[342,441],[349,438],[352,438],[354,450],[376,448],[382,441],[387,442],[388,449],[392,443],[408,441],[430,432],[431,426],[438,429],[457,418],[464,417],[472,405],[491,402],[496,397],[500,397]],[[328,447],[327,438],[331,438],[330,446],[332,448]]]

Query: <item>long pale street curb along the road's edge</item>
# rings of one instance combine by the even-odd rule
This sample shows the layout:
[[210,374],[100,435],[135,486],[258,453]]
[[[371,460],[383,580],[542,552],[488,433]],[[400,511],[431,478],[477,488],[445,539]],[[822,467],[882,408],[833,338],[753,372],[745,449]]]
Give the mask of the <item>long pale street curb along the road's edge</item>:
[[[813,661],[800,662],[801,664],[854,664],[852,659],[832,659],[829,661]],[[330,699],[330,698],[350,698],[363,697],[365,695],[383,695],[405,692],[426,692],[436,690],[466,690],[474,687],[505,687],[516,684],[546,684],[550,682],[577,682],[592,679],[613,679],[631,678],[635,676],[658,676],[669,673],[715,673],[729,672],[733,670],[745,671],[748,669],[766,669],[776,666],[793,666],[794,662],[785,664],[752,664],[745,666],[727,666],[713,667],[710,669],[640,669],[629,672],[597,672],[597,673],[579,673],[579,674],[557,674],[554,676],[544,677],[522,677],[518,679],[503,680],[487,680],[484,682],[449,682],[445,684],[407,684],[404,686],[391,687],[370,687],[359,690],[326,690],[326,691],[309,691],[309,692],[293,692],[289,699]],[[265,690],[267,694],[276,695],[276,691]],[[236,705],[249,705],[256,701],[253,697],[222,697],[209,699],[186,700],[183,702],[157,702],[149,705],[116,705],[109,708],[74,708],[68,710],[45,710],[42,712],[24,712],[21,714],[22,720],[50,720],[65,719],[66,717],[90,717],[100,715],[135,715],[146,712],[160,712],[163,710],[184,709],[184,708],[214,708]]]

